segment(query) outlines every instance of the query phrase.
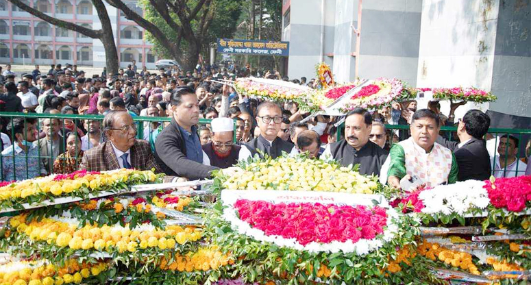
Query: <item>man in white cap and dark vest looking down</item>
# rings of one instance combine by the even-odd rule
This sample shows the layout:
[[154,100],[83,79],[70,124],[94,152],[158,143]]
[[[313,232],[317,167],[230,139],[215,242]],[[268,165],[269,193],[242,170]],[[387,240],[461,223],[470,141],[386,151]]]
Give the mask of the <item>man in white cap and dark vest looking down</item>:
[[251,151],[246,147],[234,145],[234,121],[230,118],[216,118],[210,123],[212,126],[212,142],[203,145],[206,153],[206,164],[227,169],[238,162],[251,156]]

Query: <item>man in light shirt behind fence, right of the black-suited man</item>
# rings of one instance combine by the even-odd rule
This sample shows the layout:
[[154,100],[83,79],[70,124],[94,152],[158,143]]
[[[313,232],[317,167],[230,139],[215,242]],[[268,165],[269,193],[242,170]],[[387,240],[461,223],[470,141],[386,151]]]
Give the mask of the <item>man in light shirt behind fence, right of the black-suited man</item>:
[[527,164],[516,158],[518,145],[518,138],[510,134],[499,138],[499,156],[495,158],[494,177],[517,177],[526,173]]

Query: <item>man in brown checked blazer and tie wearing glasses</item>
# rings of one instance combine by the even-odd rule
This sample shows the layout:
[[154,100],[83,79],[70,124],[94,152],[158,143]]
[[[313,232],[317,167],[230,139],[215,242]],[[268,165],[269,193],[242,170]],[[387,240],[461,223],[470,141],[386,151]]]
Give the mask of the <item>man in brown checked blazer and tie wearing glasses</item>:
[[[125,111],[110,111],[103,119],[103,131],[108,140],[85,151],[79,170],[110,171],[114,169],[155,169],[162,172],[151,152],[149,143],[136,139],[136,125]],[[171,182],[175,177],[165,177]]]

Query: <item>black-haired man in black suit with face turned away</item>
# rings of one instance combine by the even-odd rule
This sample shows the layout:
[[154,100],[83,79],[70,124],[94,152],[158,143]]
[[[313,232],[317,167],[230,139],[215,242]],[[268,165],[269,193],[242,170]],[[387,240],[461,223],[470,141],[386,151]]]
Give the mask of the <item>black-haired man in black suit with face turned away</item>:
[[491,119],[480,110],[469,110],[457,127],[458,142],[439,136],[437,143],[449,148],[456,156],[458,181],[486,180],[491,177],[491,160],[483,136],[489,130]]

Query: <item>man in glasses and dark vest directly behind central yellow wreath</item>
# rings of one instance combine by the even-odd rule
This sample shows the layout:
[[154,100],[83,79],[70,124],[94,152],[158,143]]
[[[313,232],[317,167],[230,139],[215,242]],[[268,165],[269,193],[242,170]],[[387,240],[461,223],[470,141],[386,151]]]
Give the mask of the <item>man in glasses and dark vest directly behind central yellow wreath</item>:
[[279,138],[280,126],[282,123],[282,110],[273,102],[264,102],[258,106],[256,121],[260,127],[260,136],[254,138],[245,147],[254,156],[267,154],[271,158],[282,156],[282,152],[290,153],[293,144]]

